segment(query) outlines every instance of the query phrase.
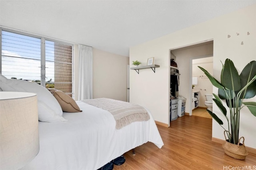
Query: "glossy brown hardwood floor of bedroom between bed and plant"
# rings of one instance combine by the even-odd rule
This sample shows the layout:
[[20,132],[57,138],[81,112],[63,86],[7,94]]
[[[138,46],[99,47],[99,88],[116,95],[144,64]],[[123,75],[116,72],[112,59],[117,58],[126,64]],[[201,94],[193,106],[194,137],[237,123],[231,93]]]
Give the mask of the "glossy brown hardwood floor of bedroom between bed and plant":
[[[256,154],[236,160],[224,153],[212,139],[212,119],[197,116],[179,117],[169,128],[158,125],[164,146],[158,149],[146,143],[124,154],[126,162],[114,170],[238,170],[238,166],[256,169]],[[239,170],[242,170],[240,167]]]

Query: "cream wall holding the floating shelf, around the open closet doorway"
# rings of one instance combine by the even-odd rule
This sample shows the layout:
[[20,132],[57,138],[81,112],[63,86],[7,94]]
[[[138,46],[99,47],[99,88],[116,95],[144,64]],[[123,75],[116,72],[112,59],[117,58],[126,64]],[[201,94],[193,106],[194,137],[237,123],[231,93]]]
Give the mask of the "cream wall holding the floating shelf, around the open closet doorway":
[[[141,70],[137,74],[130,70],[130,102],[141,104],[152,112],[156,121],[168,124],[169,105],[169,49],[182,47],[197,42],[214,40],[213,74],[219,77],[222,64],[220,61],[226,58],[231,59],[239,71],[244,66],[255,60],[256,49],[256,5],[249,6],[242,10],[220,16],[175,33],[145,42],[134,47],[130,47],[130,64],[134,60],[139,60],[142,65],[150,57],[155,57],[156,73],[151,69]],[[250,35],[247,35],[247,32]],[[239,35],[237,35],[239,33]],[[231,37],[228,38],[228,35]],[[243,45],[241,45],[243,41]],[[190,59],[176,59],[180,70],[189,69]],[[182,74],[183,76],[187,76]],[[180,91],[189,94],[190,82],[180,86]],[[214,93],[218,93],[217,88],[213,88]],[[188,99],[188,98],[187,98]],[[256,97],[250,101],[256,102]],[[188,101],[190,102],[190,101]],[[213,106],[213,111],[221,115],[217,106]],[[246,146],[256,148],[256,131],[254,117],[247,108],[244,108],[240,116],[240,136],[246,139]],[[223,129],[213,121],[212,137],[224,139]]]

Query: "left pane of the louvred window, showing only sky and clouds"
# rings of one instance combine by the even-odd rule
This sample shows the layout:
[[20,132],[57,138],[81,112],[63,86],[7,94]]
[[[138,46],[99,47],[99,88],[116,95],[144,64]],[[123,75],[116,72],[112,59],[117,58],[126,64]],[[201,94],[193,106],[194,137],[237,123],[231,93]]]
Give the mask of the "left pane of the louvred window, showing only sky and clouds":
[[[2,74],[40,82],[41,40],[2,31]],[[38,80],[38,81],[36,81]]]

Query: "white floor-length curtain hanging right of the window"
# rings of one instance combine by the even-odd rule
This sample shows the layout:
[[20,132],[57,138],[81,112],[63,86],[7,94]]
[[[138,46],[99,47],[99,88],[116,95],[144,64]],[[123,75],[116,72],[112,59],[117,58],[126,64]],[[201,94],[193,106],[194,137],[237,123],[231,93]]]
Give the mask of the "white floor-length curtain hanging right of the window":
[[78,100],[92,99],[92,47],[78,45]]

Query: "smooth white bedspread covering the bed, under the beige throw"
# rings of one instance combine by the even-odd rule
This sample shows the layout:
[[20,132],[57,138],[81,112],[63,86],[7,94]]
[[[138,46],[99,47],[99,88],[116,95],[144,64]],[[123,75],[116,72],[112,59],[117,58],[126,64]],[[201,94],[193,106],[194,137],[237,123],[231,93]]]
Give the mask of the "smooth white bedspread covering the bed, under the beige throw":
[[108,111],[78,101],[82,112],[66,113],[65,122],[39,122],[40,151],[22,170],[97,170],[148,141],[164,144],[150,120],[115,128]]

